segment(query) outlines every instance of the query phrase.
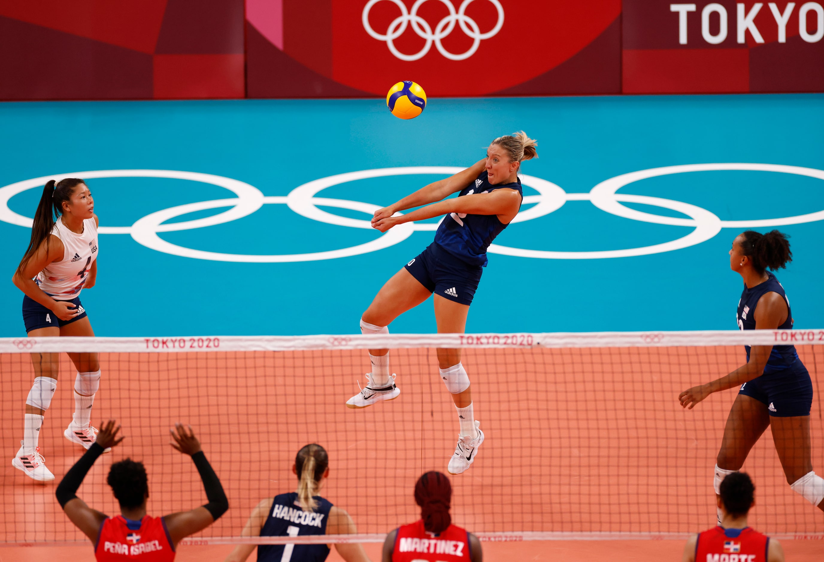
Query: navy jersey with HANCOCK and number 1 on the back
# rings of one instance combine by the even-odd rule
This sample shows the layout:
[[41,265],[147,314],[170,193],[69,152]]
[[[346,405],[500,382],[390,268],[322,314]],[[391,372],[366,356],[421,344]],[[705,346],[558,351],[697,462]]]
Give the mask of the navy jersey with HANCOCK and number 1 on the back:
[[[332,504],[319,495],[315,496],[315,501],[315,511],[306,512],[297,501],[297,492],[275,496],[269,517],[260,528],[260,536],[325,535]],[[323,562],[329,555],[326,545],[260,545],[258,562],[281,562],[287,549],[291,555],[287,560],[291,562]]]

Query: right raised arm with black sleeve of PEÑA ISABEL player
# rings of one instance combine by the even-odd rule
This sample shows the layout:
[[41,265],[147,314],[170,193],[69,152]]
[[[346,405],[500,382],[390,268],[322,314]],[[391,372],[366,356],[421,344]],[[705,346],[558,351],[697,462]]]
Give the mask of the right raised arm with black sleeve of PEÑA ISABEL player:
[[208,503],[199,508],[190,509],[190,511],[171,513],[171,515],[163,517],[172,546],[177,546],[177,543],[186,536],[203,531],[217,521],[229,508],[229,502],[223,492],[222,485],[220,485],[218,475],[214,473],[212,466],[206,460],[206,455],[201,450],[198,439],[194,437],[191,427],[186,431],[182,424],[175,424],[175,429],[177,433],[170,429],[171,437],[174,439],[171,446],[192,457],[194,466],[197,467],[200,474],[200,480],[203,480]]

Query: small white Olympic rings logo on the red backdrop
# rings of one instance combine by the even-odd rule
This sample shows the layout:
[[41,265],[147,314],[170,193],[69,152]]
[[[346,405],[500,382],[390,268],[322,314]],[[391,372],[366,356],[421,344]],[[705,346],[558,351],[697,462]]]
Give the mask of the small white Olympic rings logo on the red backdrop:
[[[498,10],[498,21],[495,23],[492,30],[487,31],[486,33],[481,33],[478,24],[475,23],[475,20],[464,13],[466,12],[466,7],[468,7],[473,0],[464,0],[461,2],[461,7],[458,8],[457,12],[455,12],[455,6],[452,5],[450,0],[440,0],[440,2],[449,10],[449,15],[444,17],[441,21],[438,21],[438,25],[435,26],[435,32],[433,33],[432,27],[429,26],[428,21],[418,15],[418,8],[421,7],[421,5],[426,1],[427,0],[417,0],[417,2],[415,2],[412,6],[412,11],[408,12],[403,0],[390,0],[390,2],[393,2],[400,8],[400,16],[392,20],[391,24],[389,24],[389,28],[386,30],[386,34],[384,35],[377,33],[377,31],[373,30],[372,26],[369,24],[369,11],[372,10],[372,6],[377,4],[377,2],[381,2],[381,0],[369,0],[367,5],[363,7],[363,14],[361,16],[363,21],[363,29],[365,29],[366,32],[369,35],[372,35],[375,39],[379,41],[386,41],[386,46],[389,47],[391,54],[394,54],[400,60],[413,61],[422,59],[424,55],[429,52],[429,49],[432,49],[433,43],[438,49],[438,52],[440,52],[440,54],[447,59],[466,60],[475,54],[481,40],[489,39],[490,37],[498,35],[498,32],[503,26],[503,6],[501,6],[501,2],[499,2],[499,0],[489,0],[489,2],[492,2],[494,5],[495,9]],[[459,26],[461,26],[461,30],[472,40],[472,46],[465,53],[461,54],[452,54],[441,44],[441,40],[452,33],[452,30],[455,29],[456,22]],[[403,54],[396,48],[394,41],[400,37],[400,35],[404,34],[406,27],[410,24],[412,25],[412,30],[421,39],[426,40],[426,44],[424,44],[423,49],[420,49],[415,54]]]

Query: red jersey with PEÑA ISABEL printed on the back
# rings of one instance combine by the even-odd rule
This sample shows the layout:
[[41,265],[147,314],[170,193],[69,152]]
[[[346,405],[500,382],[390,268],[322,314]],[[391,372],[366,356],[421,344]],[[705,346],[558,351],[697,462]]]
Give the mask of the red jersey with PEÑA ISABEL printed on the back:
[[163,518],[145,516],[136,522],[122,515],[108,518],[101,525],[95,556],[98,562],[172,562],[175,550],[171,547],[169,532]]

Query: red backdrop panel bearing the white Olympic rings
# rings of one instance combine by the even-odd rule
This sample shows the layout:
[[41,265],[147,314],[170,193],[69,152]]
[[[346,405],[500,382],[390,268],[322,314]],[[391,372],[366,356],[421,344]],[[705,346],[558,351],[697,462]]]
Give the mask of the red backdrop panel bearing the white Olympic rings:
[[431,96],[620,91],[620,0],[413,7],[246,0],[249,96],[384,96],[400,80]]

